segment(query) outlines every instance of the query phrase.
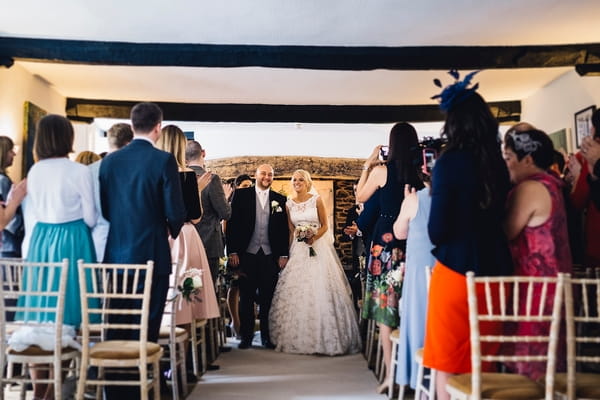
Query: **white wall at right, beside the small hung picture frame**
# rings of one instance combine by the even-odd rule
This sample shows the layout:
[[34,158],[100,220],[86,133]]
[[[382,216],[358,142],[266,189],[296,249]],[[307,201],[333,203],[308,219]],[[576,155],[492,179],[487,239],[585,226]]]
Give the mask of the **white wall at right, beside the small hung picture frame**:
[[546,133],[567,128],[573,146],[574,114],[591,105],[600,106],[600,77],[580,77],[573,70],[524,99],[521,120]]

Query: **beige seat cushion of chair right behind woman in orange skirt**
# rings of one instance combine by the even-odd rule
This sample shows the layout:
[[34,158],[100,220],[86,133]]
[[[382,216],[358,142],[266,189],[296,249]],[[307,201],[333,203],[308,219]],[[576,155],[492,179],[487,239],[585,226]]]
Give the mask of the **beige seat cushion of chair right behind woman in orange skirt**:
[[[450,377],[448,386],[463,393],[471,394],[471,374]],[[544,398],[544,387],[522,375],[483,373],[481,376],[481,398],[542,399]]]

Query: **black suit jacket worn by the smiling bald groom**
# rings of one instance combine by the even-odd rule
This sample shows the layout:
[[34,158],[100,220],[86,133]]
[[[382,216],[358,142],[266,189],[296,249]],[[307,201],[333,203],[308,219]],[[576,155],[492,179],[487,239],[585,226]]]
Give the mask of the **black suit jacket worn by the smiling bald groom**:
[[[289,254],[289,227],[285,196],[269,191],[269,244],[273,258]],[[273,207],[272,202],[277,206]],[[280,209],[278,209],[280,207]],[[246,252],[256,222],[256,190],[254,187],[236,189],[231,201],[231,218],[227,221],[227,254]]]

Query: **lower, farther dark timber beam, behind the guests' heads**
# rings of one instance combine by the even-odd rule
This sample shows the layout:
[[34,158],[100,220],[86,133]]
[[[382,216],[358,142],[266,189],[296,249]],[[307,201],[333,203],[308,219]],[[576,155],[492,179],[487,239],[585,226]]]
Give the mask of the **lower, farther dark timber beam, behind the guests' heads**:
[[[129,119],[135,101],[67,99],[67,117],[77,121],[93,118]],[[170,121],[207,122],[304,122],[304,123],[393,123],[397,121],[443,121],[436,105],[276,105],[276,104],[190,104],[156,102]],[[499,122],[516,122],[520,101],[490,103]]]

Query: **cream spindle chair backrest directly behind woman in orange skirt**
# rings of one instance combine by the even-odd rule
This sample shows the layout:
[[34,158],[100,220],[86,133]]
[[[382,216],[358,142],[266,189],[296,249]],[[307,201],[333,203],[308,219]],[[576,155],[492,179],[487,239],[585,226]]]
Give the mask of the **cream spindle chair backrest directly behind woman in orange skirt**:
[[[467,272],[469,325],[471,331],[472,393],[474,399],[481,394],[481,362],[546,362],[546,399],[553,398],[556,349],[561,320],[561,307],[565,280],[557,277],[476,277]],[[479,292],[479,296],[478,296]],[[479,298],[478,298],[479,297]],[[482,300],[485,304],[479,304]],[[551,301],[551,307],[547,305]],[[480,323],[499,323],[497,332],[480,334]],[[511,323],[541,323],[547,327],[540,335],[514,335]],[[541,329],[543,330],[543,328]],[[482,343],[548,343],[546,354],[507,354],[495,351],[484,354]],[[506,348],[510,349],[513,346]],[[497,348],[496,348],[497,350]]]

